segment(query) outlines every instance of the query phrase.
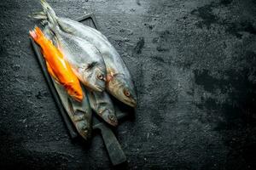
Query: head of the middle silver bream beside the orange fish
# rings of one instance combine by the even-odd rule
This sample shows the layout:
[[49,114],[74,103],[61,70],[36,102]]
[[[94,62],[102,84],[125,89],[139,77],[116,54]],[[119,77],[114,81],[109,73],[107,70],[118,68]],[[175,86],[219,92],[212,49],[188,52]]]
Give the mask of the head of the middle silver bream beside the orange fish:
[[105,65],[102,66],[99,63],[93,62],[87,65],[81,74],[83,75],[83,82],[88,88],[96,92],[104,91],[106,83]]

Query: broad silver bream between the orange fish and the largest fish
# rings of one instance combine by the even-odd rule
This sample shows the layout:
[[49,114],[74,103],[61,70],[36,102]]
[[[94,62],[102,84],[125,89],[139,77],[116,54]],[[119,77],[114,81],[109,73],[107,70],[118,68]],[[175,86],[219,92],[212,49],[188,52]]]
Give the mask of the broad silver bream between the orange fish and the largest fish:
[[87,88],[102,92],[105,89],[106,65],[98,49],[80,37],[68,34],[58,26],[53,29],[57,46],[65,54],[74,74]]

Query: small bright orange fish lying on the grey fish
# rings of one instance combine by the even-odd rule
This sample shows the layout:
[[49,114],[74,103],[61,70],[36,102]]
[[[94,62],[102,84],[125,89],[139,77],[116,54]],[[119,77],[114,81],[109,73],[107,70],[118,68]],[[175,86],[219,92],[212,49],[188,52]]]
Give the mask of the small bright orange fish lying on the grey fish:
[[83,91],[79,79],[74,75],[61,51],[55,48],[48,38],[44,37],[44,33],[40,28],[36,27],[33,31],[29,31],[29,33],[42,49],[49,74],[54,77],[56,82],[64,86],[67,94],[73,97],[73,99],[81,101],[83,99]]

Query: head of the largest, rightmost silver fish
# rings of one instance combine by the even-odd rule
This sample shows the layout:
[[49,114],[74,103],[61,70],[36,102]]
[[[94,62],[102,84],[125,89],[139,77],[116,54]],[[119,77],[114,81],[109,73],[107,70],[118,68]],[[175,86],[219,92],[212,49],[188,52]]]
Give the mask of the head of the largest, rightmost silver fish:
[[126,105],[136,107],[137,95],[130,79],[122,74],[115,74],[108,82],[108,90],[113,96]]

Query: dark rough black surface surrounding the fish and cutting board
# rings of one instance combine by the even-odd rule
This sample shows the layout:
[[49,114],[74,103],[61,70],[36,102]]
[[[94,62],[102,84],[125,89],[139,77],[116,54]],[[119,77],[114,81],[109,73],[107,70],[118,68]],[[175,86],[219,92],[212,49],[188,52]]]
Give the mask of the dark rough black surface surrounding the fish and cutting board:
[[[117,130],[128,169],[256,169],[256,2],[49,0],[93,12],[137,87]],[[69,139],[28,39],[39,0],[0,3],[0,168],[111,168],[99,135]]]

